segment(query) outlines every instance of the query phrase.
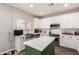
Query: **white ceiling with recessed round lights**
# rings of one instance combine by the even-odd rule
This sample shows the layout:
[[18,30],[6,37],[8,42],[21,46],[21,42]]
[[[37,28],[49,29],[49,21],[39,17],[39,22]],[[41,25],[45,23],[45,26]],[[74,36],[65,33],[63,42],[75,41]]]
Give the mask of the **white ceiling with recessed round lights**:
[[68,3],[68,7],[64,7],[65,3],[54,3],[53,6],[50,6],[50,3],[7,3],[7,4],[38,17],[43,17],[64,10],[70,10],[79,7],[79,3]]

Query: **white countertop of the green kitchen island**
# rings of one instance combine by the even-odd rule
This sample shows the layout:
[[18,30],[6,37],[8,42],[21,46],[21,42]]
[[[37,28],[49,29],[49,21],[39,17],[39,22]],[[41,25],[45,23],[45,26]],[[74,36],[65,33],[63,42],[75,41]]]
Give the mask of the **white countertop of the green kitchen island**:
[[55,37],[41,36],[39,38],[26,41],[23,44],[35,48],[39,51],[43,51],[54,39]]

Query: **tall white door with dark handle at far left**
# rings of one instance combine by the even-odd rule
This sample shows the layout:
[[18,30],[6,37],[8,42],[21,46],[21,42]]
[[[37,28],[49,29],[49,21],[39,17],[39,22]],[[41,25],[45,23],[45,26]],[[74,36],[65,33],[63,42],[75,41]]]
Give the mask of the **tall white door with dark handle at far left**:
[[11,49],[11,8],[0,4],[0,53]]

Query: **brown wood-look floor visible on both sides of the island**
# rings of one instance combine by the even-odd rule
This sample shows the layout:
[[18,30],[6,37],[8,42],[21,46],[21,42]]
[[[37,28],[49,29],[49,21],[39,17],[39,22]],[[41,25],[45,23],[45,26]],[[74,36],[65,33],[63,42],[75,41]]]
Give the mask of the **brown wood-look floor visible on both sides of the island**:
[[[18,53],[18,55],[24,54],[24,51]],[[78,55],[78,52],[76,50],[55,46],[55,55]]]

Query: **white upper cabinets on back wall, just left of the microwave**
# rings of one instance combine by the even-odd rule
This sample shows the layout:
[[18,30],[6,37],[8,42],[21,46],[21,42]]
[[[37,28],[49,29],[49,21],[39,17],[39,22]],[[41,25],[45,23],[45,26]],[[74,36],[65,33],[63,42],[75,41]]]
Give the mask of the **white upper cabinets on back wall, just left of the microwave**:
[[34,19],[34,28],[50,28],[49,19]]

